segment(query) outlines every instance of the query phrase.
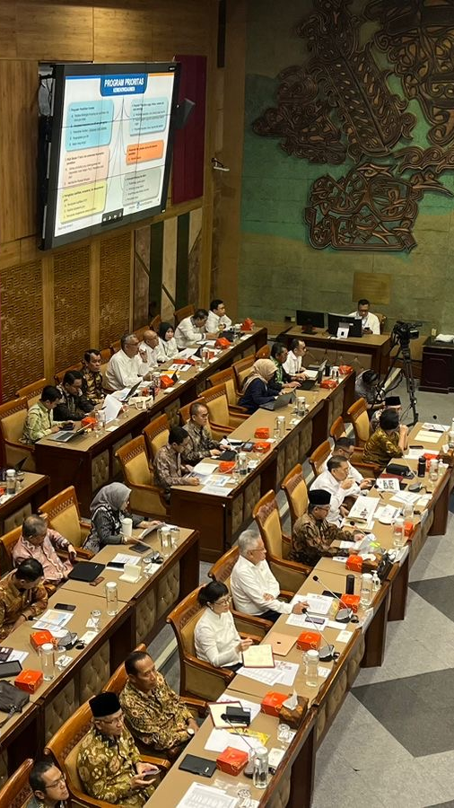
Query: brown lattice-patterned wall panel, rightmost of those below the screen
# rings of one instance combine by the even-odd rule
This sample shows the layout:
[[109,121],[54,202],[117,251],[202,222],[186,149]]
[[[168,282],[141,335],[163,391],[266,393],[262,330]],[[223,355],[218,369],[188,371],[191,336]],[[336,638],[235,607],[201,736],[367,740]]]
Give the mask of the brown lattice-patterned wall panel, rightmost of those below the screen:
[[129,328],[131,233],[100,242],[100,348]]

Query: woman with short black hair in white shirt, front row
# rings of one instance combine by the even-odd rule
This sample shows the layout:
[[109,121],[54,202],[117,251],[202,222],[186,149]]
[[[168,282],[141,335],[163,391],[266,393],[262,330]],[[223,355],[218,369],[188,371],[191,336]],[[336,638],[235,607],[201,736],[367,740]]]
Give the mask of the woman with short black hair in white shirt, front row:
[[198,659],[216,668],[238,671],[241,651],[252,645],[250,637],[241,639],[231,615],[231,595],[225,584],[212,581],[198,593],[205,611],[196,625],[194,641]]

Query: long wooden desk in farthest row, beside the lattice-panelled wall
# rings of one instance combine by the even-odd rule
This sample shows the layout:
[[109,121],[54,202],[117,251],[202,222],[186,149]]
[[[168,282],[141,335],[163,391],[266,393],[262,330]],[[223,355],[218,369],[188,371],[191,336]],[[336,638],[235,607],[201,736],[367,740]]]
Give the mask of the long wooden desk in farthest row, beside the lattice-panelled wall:
[[[181,384],[177,384],[156,397],[153,408],[137,410],[128,408],[121,413],[104,435],[98,437],[93,433],[80,435],[66,444],[58,444],[50,438],[42,438],[35,444],[37,469],[47,474],[50,479],[50,495],[57,494],[62,488],[73,485],[84,516],[90,513],[90,504],[95,492],[114,479],[120,466],[115,452],[122,444],[126,444],[136,435],[140,435],[150,420],[165,412],[170,424],[178,424],[178,410],[184,404],[193,401],[205,390],[207,380],[232,362],[251,351],[255,353],[266,344],[266,329],[255,329],[245,335],[231,347],[222,351],[216,360],[205,368],[191,368],[188,373],[179,373]],[[170,363],[171,364],[171,363]],[[165,369],[166,365],[162,365]]]

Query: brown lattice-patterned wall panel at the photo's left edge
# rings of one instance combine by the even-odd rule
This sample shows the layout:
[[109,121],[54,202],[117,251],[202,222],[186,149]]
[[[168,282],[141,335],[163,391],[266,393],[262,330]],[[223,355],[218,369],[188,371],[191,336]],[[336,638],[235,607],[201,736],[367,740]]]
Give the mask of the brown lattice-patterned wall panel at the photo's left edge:
[[3,400],[44,374],[40,261],[0,274]]

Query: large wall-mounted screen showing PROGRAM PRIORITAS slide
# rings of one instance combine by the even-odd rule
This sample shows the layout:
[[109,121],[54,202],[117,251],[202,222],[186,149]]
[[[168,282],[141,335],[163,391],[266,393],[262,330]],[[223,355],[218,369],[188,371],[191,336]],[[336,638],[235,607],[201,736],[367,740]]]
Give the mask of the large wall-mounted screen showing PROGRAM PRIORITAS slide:
[[179,68],[178,62],[53,67],[42,249],[165,210]]

